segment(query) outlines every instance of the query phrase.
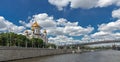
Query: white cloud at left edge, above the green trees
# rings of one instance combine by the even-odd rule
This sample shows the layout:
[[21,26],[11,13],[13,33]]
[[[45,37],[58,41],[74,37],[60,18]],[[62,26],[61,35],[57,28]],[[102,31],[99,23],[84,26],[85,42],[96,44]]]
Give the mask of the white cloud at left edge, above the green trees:
[[5,20],[4,17],[0,16],[0,31],[2,32],[12,31],[15,33],[21,33],[24,29],[25,29],[24,26],[17,26],[8,20]]

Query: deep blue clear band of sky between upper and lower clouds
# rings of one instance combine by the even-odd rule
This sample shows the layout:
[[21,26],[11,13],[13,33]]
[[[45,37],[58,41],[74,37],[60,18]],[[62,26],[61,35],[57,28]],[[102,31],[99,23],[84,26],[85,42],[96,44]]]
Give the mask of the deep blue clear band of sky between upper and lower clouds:
[[58,18],[66,18],[70,21],[79,21],[82,26],[110,22],[111,12],[116,9],[114,6],[107,8],[93,9],[70,9],[69,6],[63,11],[59,11],[55,6],[49,4],[47,0],[1,0],[0,15],[15,24],[19,24],[19,20],[27,20],[28,16],[39,13],[47,13],[48,15]]

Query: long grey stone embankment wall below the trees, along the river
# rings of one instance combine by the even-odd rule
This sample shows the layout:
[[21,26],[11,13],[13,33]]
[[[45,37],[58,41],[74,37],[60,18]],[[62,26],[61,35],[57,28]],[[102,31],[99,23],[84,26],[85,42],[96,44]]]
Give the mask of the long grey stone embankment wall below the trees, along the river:
[[65,54],[70,52],[71,50],[65,50],[65,49],[0,47],[0,61]]

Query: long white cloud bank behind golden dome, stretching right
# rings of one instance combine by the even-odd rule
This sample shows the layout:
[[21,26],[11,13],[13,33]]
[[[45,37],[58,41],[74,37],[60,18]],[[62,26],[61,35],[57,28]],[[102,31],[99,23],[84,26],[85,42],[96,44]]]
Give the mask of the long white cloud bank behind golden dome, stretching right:
[[48,35],[68,35],[81,36],[91,33],[94,28],[88,26],[84,28],[78,25],[78,22],[70,22],[64,18],[55,20],[53,16],[48,16],[46,13],[34,15],[29,23],[20,21],[20,23],[30,27],[34,21],[37,21],[43,29],[47,29]]

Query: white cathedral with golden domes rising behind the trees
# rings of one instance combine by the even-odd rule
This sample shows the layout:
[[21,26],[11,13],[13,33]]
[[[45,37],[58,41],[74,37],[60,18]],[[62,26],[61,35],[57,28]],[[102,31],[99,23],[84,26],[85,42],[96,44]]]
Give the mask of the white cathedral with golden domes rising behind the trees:
[[25,36],[27,38],[40,38],[43,42],[48,43],[47,31],[44,30],[41,32],[41,27],[36,21],[31,26],[31,32],[28,30],[25,31]]

